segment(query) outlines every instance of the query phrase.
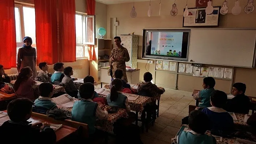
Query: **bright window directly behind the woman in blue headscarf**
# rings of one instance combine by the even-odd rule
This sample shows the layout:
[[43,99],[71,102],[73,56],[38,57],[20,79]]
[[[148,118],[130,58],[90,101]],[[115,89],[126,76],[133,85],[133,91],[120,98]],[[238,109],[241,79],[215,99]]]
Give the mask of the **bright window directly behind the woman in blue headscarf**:
[[29,36],[33,40],[32,47],[36,48],[35,39],[35,8],[15,4],[16,43],[18,49],[23,46],[23,38]]

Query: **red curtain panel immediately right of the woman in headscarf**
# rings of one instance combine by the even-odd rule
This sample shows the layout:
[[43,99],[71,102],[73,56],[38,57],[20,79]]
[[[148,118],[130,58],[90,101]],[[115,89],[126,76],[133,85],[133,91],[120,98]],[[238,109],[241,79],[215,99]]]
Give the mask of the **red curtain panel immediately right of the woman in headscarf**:
[[37,64],[58,62],[56,0],[35,0]]

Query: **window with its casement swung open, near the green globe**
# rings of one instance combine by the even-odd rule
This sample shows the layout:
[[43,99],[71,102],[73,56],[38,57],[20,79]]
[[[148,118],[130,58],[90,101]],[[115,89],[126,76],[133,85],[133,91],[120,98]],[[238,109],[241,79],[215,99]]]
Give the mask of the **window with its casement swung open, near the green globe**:
[[88,57],[87,44],[95,44],[95,16],[76,14],[76,58]]

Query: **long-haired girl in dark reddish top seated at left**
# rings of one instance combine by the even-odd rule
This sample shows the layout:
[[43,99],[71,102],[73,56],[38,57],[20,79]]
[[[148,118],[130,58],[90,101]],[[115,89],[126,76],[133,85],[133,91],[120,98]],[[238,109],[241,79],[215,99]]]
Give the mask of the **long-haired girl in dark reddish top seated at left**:
[[16,92],[18,98],[28,98],[32,101],[36,99],[34,95],[34,89],[37,88],[37,82],[31,79],[33,77],[33,71],[30,67],[23,67],[18,73],[17,80],[13,85],[13,89]]

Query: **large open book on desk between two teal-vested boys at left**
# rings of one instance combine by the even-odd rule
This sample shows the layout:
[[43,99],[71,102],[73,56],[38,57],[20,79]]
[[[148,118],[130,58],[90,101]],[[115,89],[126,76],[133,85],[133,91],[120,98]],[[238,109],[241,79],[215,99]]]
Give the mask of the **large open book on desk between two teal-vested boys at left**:
[[52,98],[52,100],[54,100],[54,102],[57,105],[63,106],[65,108],[73,108],[73,105],[75,102],[74,99],[71,96],[69,96],[68,94],[54,97],[54,98]]

